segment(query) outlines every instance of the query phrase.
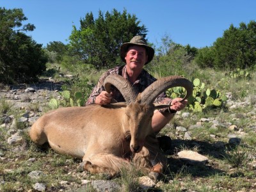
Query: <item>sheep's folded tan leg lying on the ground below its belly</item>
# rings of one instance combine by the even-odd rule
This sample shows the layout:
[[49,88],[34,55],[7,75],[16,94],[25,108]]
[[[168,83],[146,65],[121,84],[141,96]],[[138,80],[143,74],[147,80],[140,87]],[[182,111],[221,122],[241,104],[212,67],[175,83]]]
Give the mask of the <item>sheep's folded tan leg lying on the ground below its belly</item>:
[[114,177],[122,168],[131,168],[132,164],[113,154],[99,153],[91,157],[84,156],[80,166],[90,173],[105,173]]

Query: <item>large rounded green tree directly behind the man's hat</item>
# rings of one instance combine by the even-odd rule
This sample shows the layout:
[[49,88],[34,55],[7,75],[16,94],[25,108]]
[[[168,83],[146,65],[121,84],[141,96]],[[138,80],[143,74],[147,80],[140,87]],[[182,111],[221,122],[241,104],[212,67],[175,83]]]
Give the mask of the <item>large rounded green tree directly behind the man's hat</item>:
[[70,56],[76,56],[84,64],[92,64],[95,68],[113,67],[120,64],[120,46],[129,42],[135,35],[146,35],[144,25],[135,15],[120,13],[113,9],[105,15],[99,11],[94,19],[92,12],[86,13],[80,20],[80,28],[73,26],[69,37]]

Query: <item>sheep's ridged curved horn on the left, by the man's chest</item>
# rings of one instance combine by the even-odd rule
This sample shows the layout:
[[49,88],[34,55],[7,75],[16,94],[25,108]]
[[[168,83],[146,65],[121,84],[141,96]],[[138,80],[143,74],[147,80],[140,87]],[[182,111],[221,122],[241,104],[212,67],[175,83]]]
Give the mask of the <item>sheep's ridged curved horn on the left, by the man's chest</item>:
[[110,93],[110,86],[113,84],[123,95],[127,103],[134,102],[137,95],[127,79],[117,74],[111,74],[104,80],[106,92]]

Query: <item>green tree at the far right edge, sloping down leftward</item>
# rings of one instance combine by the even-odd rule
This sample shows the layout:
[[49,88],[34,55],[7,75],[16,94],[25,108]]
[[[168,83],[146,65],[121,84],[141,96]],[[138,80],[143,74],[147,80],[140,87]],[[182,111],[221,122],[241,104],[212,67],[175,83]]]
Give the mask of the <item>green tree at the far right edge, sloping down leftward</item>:
[[214,67],[218,69],[253,68],[256,61],[255,44],[256,22],[244,22],[236,28],[233,24],[225,30],[212,47],[198,50],[195,58],[200,67]]

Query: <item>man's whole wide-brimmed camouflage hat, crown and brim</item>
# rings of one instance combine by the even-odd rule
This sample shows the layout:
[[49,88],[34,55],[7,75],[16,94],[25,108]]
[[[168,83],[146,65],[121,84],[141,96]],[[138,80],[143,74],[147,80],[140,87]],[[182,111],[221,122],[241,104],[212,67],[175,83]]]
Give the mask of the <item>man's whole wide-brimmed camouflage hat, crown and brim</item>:
[[122,61],[125,62],[125,56],[126,56],[126,52],[127,49],[131,46],[131,45],[139,45],[139,46],[143,46],[145,47],[146,51],[147,51],[147,55],[148,55],[148,61],[145,63],[148,64],[154,57],[155,51],[152,47],[148,46],[147,41],[145,40],[145,38],[143,38],[143,36],[137,35],[134,36],[130,42],[124,43],[121,45],[120,47],[120,56]]

